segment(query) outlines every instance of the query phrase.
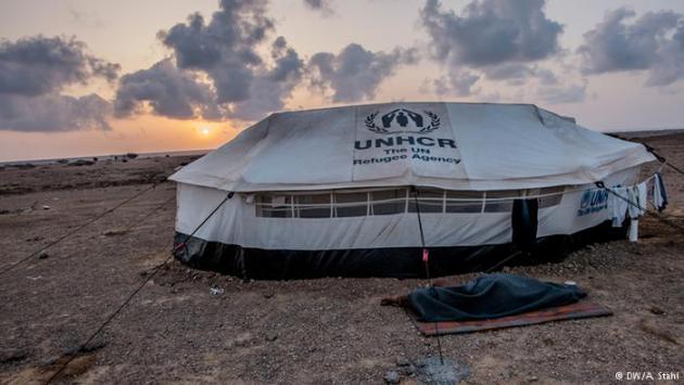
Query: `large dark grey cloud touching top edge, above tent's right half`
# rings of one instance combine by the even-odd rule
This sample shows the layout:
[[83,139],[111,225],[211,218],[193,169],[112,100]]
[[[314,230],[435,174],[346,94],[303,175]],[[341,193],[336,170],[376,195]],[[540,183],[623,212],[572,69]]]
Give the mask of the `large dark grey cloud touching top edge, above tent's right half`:
[[428,0],[420,21],[432,40],[435,60],[454,66],[483,67],[528,63],[559,51],[562,26],[546,17],[544,0],[474,0],[460,15]]

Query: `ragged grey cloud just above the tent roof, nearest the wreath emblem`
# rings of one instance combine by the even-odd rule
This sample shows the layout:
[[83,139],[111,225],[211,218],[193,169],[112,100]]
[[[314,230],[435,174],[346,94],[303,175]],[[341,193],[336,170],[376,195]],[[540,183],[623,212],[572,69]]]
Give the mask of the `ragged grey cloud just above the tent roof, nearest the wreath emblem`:
[[308,61],[308,70],[312,85],[330,89],[333,102],[357,102],[372,99],[382,80],[393,75],[398,66],[417,61],[414,50],[371,52],[351,43],[337,54],[314,54]]

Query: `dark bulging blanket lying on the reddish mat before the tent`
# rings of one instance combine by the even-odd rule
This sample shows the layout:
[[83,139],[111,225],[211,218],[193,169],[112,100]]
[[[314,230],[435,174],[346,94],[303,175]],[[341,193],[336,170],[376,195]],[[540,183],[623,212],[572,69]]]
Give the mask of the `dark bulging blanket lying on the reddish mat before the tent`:
[[495,273],[461,286],[419,288],[408,295],[408,301],[420,321],[439,322],[515,316],[573,304],[585,296],[577,285]]

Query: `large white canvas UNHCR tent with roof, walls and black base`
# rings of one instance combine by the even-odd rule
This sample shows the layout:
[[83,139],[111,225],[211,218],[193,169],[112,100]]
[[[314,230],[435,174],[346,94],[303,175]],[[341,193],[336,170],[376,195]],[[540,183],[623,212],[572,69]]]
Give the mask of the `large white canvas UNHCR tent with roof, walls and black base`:
[[654,159],[528,104],[273,114],[172,176],[179,242],[235,193],[177,257],[251,277],[417,275],[417,191],[435,269],[469,270],[510,253],[515,202],[534,203],[539,240],[569,236],[610,219],[595,182],[633,184]]

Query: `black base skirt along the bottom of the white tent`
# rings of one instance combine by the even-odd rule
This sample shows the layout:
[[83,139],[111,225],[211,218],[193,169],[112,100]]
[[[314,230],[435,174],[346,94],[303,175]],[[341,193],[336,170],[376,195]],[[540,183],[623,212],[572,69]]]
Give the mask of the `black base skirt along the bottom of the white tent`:
[[[561,260],[570,252],[591,243],[625,239],[626,227],[612,228],[610,221],[574,233],[540,238],[521,252],[519,245],[430,247],[430,273],[444,277],[485,271],[511,265]],[[186,234],[176,233],[176,244]],[[331,251],[262,249],[207,242],[191,238],[178,247],[176,258],[188,266],[243,279],[288,280],[321,277],[425,278],[420,247]],[[502,261],[508,260],[506,264]]]

